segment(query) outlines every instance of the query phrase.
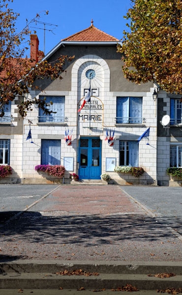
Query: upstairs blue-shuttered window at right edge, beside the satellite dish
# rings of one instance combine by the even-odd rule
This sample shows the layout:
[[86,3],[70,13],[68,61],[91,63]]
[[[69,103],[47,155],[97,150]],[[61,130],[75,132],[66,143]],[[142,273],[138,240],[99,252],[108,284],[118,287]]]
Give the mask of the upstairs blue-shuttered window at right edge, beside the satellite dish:
[[170,108],[170,124],[181,124],[182,123],[182,102],[181,99],[171,98]]

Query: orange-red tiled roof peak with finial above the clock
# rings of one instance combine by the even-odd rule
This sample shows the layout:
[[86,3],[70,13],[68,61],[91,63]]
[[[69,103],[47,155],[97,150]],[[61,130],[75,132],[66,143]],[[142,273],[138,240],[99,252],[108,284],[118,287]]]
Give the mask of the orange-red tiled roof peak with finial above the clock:
[[62,39],[61,41],[118,42],[120,40],[94,27],[93,21],[91,20],[91,26],[89,28],[83,29],[78,33]]

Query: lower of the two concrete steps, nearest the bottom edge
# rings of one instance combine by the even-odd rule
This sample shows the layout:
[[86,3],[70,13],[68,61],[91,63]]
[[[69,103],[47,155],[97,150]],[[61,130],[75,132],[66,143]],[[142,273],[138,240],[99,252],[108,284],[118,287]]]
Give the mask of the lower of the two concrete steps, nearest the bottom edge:
[[98,276],[56,275],[54,273],[7,273],[0,275],[0,289],[117,289],[127,284],[139,290],[163,290],[181,288],[182,275],[161,279],[147,274],[111,274]]

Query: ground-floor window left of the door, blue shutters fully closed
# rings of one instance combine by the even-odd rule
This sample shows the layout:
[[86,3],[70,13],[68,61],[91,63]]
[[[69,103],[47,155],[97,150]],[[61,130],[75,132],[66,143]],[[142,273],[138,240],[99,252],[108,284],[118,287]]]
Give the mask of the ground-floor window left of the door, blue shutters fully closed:
[[61,140],[42,139],[41,165],[61,164]]

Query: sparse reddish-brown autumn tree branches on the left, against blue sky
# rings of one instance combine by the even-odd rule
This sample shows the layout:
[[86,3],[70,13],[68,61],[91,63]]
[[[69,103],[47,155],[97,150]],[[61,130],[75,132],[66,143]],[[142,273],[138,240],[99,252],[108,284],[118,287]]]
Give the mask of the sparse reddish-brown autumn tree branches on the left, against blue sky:
[[[49,114],[51,112],[46,108],[49,105],[46,100],[27,99],[30,89],[39,89],[35,83],[37,79],[62,79],[64,65],[73,57],[60,56],[52,62],[43,60],[33,66],[33,60],[25,58],[25,52],[29,49],[25,43],[31,33],[30,24],[36,22],[40,16],[37,14],[30,22],[27,20],[26,27],[17,33],[16,20],[19,14],[8,8],[9,1],[13,2],[13,0],[0,0],[0,117],[4,114],[5,104],[17,96],[21,96],[23,100],[18,106],[23,118],[32,110],[33,104]],[[48,11],[45,11],[45,14],[48,14]]]

